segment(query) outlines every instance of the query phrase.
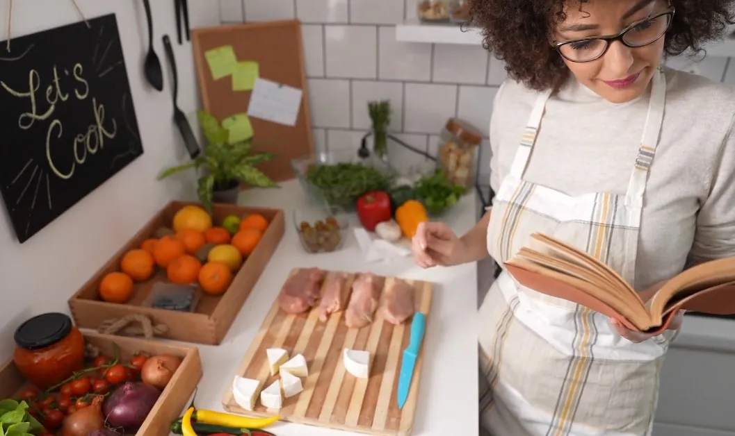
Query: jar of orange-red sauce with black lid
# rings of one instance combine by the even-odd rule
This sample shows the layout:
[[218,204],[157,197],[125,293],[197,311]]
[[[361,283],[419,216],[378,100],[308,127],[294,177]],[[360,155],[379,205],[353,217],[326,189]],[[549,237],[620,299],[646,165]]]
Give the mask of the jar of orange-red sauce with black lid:
[[85,338],[64,313],[43,313],[15,330],[15,366],[46,389],[84,367]]

